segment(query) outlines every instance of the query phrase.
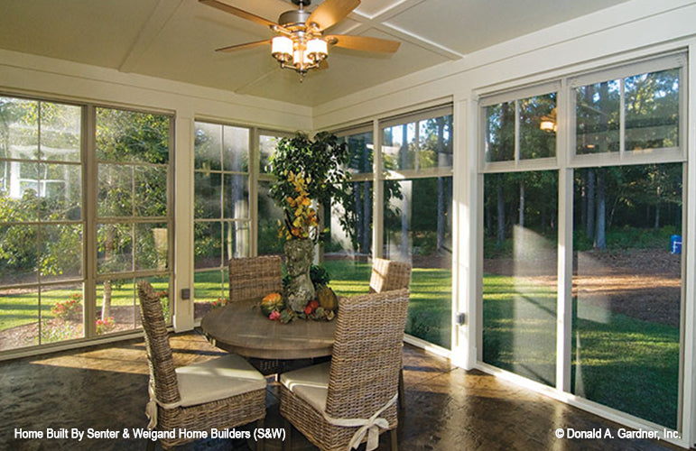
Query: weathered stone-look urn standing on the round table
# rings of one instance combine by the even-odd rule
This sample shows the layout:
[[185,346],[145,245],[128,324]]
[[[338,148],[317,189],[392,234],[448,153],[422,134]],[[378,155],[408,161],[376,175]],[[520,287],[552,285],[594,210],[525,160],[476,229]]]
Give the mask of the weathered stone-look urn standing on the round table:
[[290,283],[286,288],[288,307],[302,312],[307,302],[314,299],[314,285],[310,279],[311,262],[314,260],[314,243],[311,239],[294,239],[285,242],[285,265]]

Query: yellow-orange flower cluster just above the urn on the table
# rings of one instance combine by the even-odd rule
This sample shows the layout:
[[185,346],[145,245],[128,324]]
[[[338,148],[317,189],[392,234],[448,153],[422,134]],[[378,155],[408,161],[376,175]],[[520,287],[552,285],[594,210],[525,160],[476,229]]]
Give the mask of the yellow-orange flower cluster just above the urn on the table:
[[317,235],[319,218],[317,210],[311,207],[311,199],[307,192],[309,178],[305,179],[302,173],[294,174],[292,170],[287,179],[294,187],[297,196],[285,198],[285,226],[281,227],[279,235],[285,235],[286,240],[312,238]]

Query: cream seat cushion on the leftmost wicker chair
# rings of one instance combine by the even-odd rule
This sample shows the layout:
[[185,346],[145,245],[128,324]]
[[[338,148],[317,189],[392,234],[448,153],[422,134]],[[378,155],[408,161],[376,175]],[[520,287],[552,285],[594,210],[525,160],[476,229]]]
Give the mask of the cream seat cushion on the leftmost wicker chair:
[[237,354],[176,369],[181,407],[224,400],[248,391],[264,390],[264,375]]

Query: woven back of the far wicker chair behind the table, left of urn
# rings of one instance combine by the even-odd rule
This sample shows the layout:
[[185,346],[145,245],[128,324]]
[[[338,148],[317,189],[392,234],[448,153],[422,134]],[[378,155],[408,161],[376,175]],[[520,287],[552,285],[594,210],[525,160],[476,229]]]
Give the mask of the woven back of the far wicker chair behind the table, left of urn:
[[233,258],[229,261],[229,300],[261,299],[283,291],[280,255]]

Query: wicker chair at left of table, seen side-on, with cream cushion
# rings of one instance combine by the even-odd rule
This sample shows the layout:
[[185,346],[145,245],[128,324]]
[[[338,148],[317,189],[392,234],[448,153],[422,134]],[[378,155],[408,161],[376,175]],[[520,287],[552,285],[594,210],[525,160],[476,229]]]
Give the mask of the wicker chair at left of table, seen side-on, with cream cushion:
[[[138,295],[150,367],[150,401],[145,410],[150,419],[148,428],[209,431],[253,421],[263,427],[264,376],[235,354],[174,369],[159,296],[146,281],[138,283]],[[192,440],[178,433],[172,436],[160,438],[163,448]],[[148,445],[154,447],[154,442],[150,440]],[[263,446],[258,442],[257,449]]]

